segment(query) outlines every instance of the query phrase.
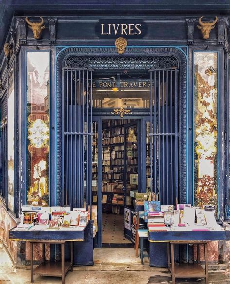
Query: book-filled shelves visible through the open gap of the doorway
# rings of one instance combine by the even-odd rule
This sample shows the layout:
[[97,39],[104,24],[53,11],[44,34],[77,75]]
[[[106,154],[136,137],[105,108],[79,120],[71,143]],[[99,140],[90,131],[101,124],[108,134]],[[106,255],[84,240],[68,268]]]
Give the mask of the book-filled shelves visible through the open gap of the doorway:
[[130,119],[102,123],[102,210],[124,213],[124,125]]

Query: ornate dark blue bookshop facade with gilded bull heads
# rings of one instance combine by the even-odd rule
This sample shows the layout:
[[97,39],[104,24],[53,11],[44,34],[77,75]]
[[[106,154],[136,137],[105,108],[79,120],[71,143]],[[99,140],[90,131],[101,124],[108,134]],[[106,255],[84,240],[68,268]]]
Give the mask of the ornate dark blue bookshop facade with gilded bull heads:
[[[145,200],[230,221],[229,18],[219,14],[12,18],[0,55],[0,237],[17,265],[28,246],[8,230],[25,205],[89,212],[75,265],[92,265],[93,248],[132,246]],[[229,250],[214,241],[210,262]]]

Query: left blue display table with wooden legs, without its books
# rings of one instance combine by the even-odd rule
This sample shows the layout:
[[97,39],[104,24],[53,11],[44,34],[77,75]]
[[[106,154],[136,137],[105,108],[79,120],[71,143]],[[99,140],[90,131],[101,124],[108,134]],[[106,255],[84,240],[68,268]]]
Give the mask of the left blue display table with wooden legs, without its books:
[[[12,228],[9,230],[9,239],[13,241],[29,241],[31,246],[31,282],[33,282],[33,275],[42,276],[59,276],[62,277],[62,283],[69,270],[73,269],[74,258],[84,261],[90,259],[90,264],[80,263],[82,265],[92,265],[93,259],[93,236],[90,221],[81,228],[60,228],[36,230],[16,230]],[[39,228],[39,227],[38,227]],[[70,261],[65,261],[65,244],[70,244]],[[81,246],[78,243],[81,242]],[[33,244],[43,244],[43,262],[33,269]],[[73,257],[73,243],[76,244]],[[61,262],[47,262],[45,260],[45,244],[61,245]],[[88,245],[89,244],[89,245]],[[83,251],[83,253],[82,253]]]

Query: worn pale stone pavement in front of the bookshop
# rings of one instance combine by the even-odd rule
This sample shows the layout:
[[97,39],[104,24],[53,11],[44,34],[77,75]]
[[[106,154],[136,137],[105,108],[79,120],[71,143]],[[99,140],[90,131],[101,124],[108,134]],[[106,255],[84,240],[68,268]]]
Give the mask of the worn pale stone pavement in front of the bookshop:
[[[94,250],[94,266],[74,267],[68,272],[66,284],[170,284],[167,269],[140,264],[133,248],[102,248]],[[210,271],[209,284],[230,284],[228,271]],[[0,284],[29,284],[30,270],[16,269],[0,243]],[[177,284],[204,283],[202,279],[181,279]],[[34,284],[61,284],[58,277],[34,276]]]

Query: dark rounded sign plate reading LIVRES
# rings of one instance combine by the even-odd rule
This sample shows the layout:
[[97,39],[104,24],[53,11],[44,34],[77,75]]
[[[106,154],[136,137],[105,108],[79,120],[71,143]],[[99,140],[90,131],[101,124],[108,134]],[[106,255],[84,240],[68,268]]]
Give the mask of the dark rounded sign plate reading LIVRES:
[[143,38],[147,25],[142,20],[99,20],[95,27],[99,38]]

